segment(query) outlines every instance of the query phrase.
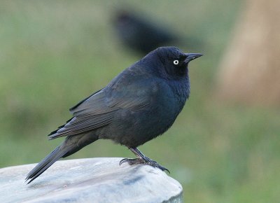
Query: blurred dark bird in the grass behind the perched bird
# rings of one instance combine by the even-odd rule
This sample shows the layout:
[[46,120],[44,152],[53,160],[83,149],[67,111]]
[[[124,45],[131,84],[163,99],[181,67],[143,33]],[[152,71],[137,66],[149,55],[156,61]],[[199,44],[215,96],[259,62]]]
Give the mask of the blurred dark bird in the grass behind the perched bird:
[[113,24],[120,40],[144,55],[159,46],[170,45],[178,40],[167,28],[127,10],[119,10]]

